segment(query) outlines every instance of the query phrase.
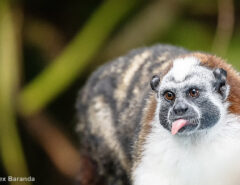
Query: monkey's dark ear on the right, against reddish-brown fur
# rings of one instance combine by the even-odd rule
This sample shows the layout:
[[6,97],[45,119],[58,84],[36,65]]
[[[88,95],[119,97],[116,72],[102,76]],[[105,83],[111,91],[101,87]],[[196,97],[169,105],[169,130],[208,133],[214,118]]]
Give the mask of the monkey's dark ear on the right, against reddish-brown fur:
[[215,90],[226,100],[229,94],[229,86],[227,84],[227,71],[222,68],[214,69],[213,75],[216,79],[214,83]]

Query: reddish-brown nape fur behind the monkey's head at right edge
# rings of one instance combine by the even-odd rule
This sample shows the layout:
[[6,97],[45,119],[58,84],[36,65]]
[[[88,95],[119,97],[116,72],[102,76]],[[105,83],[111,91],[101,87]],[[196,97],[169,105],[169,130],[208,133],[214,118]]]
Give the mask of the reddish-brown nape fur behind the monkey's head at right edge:
[[219,57],[203,53],[193,53],[192,55],[199,58],[204,66],[223,68],[227,71],[227,82],[230,85],[228,101],[231,103],[229,111],[233,114],[240,114],[240,76],[237,71]]

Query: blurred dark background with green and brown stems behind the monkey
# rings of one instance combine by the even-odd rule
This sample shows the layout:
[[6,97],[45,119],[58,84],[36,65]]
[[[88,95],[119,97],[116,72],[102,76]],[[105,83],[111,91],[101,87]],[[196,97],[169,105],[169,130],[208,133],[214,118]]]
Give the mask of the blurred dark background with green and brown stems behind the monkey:
[[74,183],[84,173],[74,133],[79,89],[99,65],[167,43],[240,69],[240,2],[0,0],[0,177]]

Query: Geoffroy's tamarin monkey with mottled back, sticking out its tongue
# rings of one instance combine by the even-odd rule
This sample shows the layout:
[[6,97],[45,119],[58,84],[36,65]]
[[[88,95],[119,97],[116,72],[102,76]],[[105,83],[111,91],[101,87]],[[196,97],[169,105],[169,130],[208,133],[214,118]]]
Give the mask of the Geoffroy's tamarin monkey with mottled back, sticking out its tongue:
[[95,168],[93,184],[238,185],[239,114],[240,76],[221,58],[136,49],[81,89],[80,152]]

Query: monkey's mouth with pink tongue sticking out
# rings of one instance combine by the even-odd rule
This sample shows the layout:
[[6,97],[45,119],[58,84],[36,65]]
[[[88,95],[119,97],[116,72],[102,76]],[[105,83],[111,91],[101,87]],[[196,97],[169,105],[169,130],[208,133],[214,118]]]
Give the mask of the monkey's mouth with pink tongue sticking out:
[[172,123],[171,133],[175,135],[177,133],[192,131],[197,128],[198,123],[198,119],[177,119]]

